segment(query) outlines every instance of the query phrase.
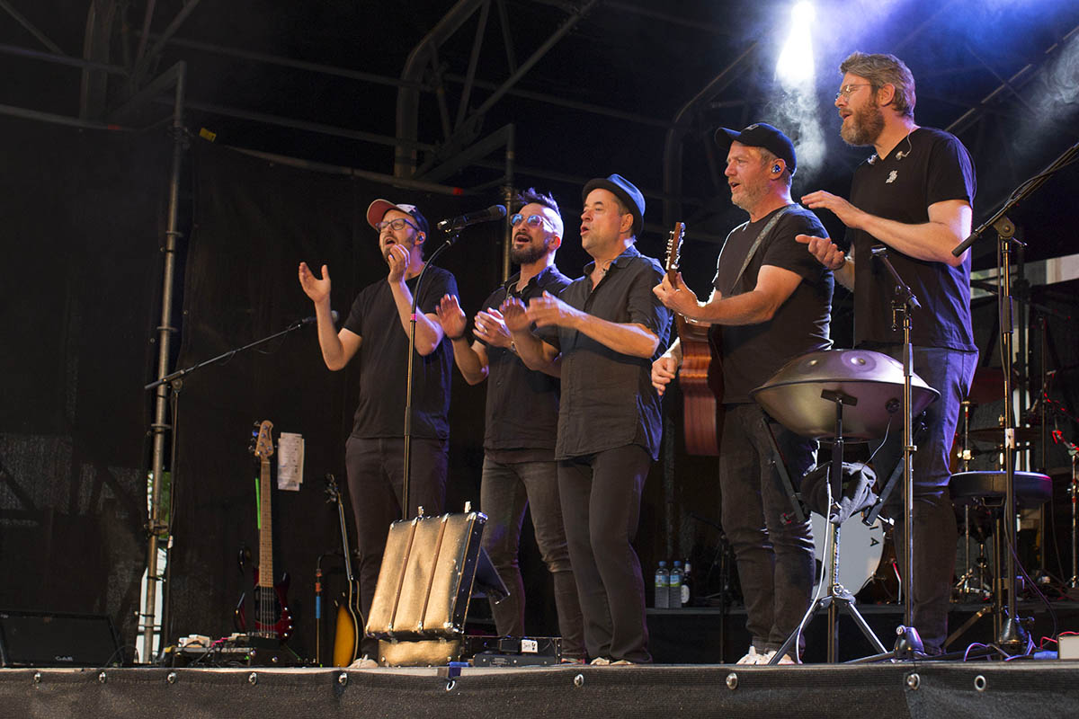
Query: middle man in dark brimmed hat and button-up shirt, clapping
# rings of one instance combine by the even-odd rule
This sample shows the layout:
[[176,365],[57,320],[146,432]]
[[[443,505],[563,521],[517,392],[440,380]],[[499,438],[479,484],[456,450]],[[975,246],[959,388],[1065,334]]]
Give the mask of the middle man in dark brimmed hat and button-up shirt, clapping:
[[632,542],[659,454],[651,372],[671,315],[652,292],[663,267],[634,246],[644,222],[640,190],[611,175],[589,181],[583,197],[581,245],[592,258],[584,276],[527,308],[510,299],[503,316],[524,363],[562,377],[555,456],[588,654],[592,664],[646,663],[644,579]]

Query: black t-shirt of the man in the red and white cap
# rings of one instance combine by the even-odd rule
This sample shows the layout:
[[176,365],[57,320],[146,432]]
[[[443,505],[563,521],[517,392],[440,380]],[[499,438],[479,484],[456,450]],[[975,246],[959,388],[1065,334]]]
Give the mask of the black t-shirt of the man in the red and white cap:
[[[415,293],[413,277],[406,281]],[[416,312],[435,312],[443,294],[457,293],[457,282],[446,269],[428,266]],[[365,287],[352,303],[344,328],[359,344],[359,404],[352,435],[365,439],[405,435],[405,383],[408,373],[408,334],[401,327],[390,284],[380,279]],[[442,337],[435,351],[419,352],[412,364],[412,437],[445,440],[450,435],[450,364],[452,345]]]

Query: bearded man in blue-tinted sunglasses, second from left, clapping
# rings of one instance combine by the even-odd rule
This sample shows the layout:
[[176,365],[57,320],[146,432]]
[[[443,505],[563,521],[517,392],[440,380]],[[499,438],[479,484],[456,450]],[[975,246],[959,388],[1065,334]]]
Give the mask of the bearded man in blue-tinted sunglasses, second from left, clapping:
[[468,336],[457,299],[447,294],[438,307],[442,330],[453,342],[453,360],[469,385],[488,379],[487,429],[480,509],[487,514],[483,548],[509,596],[491,604],[500,636],[524,636],[524,581],[517,562],[525,508],[532,515],[536,544],[555,585],[555,606],[562,635],[562,660],[585,658],[581,605],[570,567],[570,553],[558,495],[555,439],[558,433],[559,381],[528,369],[498,307],[507,296],[528,303],[548,292],[558,295],[570,279],[555,266],[562,244],[562,217],[550,195],[530,189],[518,195],[510,218],[509,259],[520,272],[483,301]]

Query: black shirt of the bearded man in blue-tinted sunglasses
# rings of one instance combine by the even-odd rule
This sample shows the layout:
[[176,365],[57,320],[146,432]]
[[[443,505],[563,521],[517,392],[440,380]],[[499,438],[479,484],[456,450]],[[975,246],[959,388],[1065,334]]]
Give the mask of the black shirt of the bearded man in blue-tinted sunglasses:
[[[544,292],[558,296],[570,284],[570,278],[555,266],[545,267],[520,291],[514,289],[518,279],[520,273],[492,292],[483,301],[483,307],[497,309],[507,294],[528,305],[529,300]],[[517,355],[504,347],[487,345],[487,429],[483,434],[487,456],[503,462],[554,459],[558,438],[558,377],[528,369]]]

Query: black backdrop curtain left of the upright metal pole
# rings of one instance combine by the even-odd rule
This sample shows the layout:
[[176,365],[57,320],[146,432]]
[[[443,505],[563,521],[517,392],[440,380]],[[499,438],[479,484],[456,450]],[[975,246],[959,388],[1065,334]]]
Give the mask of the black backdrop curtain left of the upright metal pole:
[[0,117],[0,608],[135,635],[169,139]]

